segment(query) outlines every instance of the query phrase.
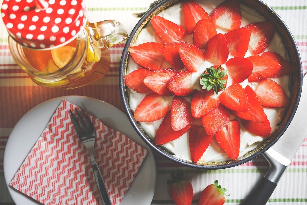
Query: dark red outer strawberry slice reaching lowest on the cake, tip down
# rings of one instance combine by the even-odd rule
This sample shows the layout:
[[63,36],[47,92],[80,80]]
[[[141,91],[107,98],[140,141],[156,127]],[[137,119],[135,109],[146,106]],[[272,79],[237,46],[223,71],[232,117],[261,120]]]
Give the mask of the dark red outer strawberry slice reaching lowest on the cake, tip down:
[[212,141],[212,135],[208,135],[204,127],[192,125],[189,132],[189,144],[191,159],[198,162]]

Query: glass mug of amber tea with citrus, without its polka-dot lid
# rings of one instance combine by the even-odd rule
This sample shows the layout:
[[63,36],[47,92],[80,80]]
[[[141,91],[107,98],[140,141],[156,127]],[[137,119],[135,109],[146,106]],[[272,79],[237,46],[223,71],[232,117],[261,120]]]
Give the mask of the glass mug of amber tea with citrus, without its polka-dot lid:
[[54,49],[31,49],[9,36],[16,63],[37,84],[72,89],[106,75],[111,65],[108,48],[126,40],[125,28],[115,20],[87,22],[75,39]]

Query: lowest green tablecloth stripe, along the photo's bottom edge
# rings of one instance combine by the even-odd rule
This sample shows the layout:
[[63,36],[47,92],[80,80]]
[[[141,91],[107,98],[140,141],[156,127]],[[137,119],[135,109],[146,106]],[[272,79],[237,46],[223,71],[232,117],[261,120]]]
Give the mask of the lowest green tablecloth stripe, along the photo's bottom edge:
[[[243,199],[225,199],[225,203],[240,203]],[[280,198],[269,199],[268,202],[307,202],[305,198]],[[173,204],[172,200],[152,200],[152,204]],[[198,199],[194,199],[192,203],[198,203]]]

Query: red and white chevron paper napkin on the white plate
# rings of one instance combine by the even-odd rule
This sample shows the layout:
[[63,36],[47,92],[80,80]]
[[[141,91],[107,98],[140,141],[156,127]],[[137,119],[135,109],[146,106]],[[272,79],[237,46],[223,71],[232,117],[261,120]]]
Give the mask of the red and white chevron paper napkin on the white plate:
[[[63,100],[10,182],[10,186],[45,204],[102,204],[90,155],[79,140]],[[96,130],[95,159],[113,205],[119,204],[147,150],[88,115]]]

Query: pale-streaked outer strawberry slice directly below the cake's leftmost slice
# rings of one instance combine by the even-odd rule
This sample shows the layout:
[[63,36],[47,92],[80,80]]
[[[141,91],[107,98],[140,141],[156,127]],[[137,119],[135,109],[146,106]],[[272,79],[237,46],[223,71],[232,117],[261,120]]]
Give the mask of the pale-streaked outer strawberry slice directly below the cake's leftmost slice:
[[164,117],[168,111],[169,107],[161,95],[149,93],[135,109],[134,119],[140,122],[153,122]]

